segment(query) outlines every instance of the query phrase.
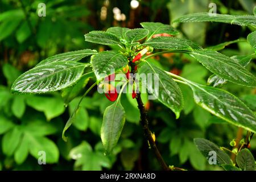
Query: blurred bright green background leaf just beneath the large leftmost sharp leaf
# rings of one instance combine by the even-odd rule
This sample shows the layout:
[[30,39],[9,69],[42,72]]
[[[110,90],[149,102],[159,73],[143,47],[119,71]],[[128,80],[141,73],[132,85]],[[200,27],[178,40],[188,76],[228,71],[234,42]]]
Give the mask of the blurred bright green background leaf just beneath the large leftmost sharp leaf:
[[27,97],[27,105],[43,111],[47,121],[59,116],[65,110],[64,102],[60,97],[30,96]]

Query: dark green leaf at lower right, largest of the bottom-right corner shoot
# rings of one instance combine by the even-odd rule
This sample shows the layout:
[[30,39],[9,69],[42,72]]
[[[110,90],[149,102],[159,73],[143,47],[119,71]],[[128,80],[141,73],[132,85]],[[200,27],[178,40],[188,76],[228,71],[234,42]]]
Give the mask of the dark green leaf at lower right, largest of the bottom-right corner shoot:
[[211,156],[209,155],[209,152],[214,151],[216,152],[217,164],[232,164],[232,160],[229,158],[228,154],[220,150],[220,148],[213,142],[210,142],[209,140],[203,138],[195,138],[194,143],[201,152],[201,154],[203,154],[207,158],[207,160]]

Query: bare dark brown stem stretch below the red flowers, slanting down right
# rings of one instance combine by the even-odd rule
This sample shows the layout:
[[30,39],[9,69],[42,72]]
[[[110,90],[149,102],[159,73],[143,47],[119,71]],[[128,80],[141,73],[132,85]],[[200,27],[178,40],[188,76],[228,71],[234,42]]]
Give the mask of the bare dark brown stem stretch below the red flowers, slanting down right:
[[154,151],[156,159],[158,159],[158,162],[162,169],[164,171],[169,171],[170,169],[168,168],[166,162],[164,162],[163,157],[158,150],[158,147],[156,147],[155,141],[152,138],[152,133],[148,127],[147,114],[143,102],[141,100],[141,93],[137,94],[136,100],[138,103],[139,112],[141,113],[141,125],[144,131],[144,135],[147,138],[148,142],[150,143],[150,147]]

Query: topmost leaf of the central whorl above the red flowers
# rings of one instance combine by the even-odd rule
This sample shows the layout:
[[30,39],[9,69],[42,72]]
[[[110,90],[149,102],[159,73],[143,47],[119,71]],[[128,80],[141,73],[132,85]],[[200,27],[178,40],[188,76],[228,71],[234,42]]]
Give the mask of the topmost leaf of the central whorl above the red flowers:
[[151,39],[151,37],[155,34],[179,34],[179,32],[175,31],[174,28],[172,28],[169,24],[159,22],[142,22],[141,26],[149,31],[147,39]]

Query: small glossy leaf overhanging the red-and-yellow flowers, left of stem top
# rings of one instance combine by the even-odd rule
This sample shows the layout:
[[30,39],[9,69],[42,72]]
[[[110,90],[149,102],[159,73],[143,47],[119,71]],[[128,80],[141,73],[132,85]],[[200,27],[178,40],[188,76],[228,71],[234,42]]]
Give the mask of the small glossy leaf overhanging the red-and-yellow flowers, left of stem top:
[[91,59],[93,72],[97,80],[110,75],[112,70],[117,71],[128,64],[127,57],[117,51],[103,51],[93,55]]

